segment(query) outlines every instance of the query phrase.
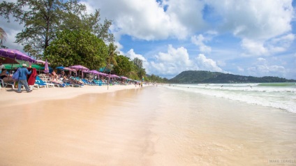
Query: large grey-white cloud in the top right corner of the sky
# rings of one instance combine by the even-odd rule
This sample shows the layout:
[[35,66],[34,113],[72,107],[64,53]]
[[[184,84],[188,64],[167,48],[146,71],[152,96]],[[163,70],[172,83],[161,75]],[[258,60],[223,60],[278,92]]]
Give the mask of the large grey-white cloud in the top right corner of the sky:
[[291,30],[292,0],[208,0],[223,17],[221,27],[249,40],[267,40]]

